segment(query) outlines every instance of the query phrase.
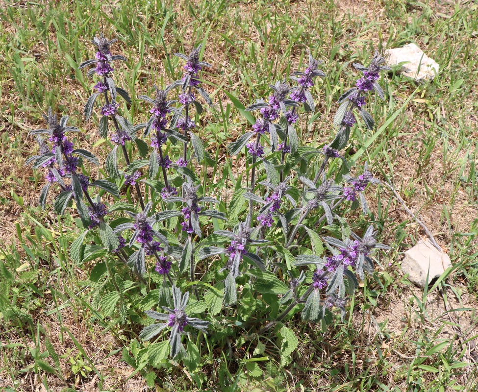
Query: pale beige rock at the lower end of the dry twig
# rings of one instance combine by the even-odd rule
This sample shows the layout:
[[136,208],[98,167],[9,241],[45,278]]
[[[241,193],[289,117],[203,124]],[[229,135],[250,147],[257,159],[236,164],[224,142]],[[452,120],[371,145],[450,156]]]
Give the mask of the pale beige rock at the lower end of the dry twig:
[[427,275],[430,283],[451,266],[450,257],[438,251],[428,240],[420,240],[417,245],[408,249],[402,261],[403,273],[407,273],[408,279],[422,289],[425,287]]

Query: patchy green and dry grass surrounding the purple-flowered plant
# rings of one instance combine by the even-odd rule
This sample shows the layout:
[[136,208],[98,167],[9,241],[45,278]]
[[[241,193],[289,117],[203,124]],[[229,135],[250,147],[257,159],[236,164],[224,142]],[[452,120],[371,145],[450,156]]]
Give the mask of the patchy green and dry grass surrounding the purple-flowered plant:
[[[338,3],[126,0],[110,6],[60,0],[2,7],[0,388],[31,391],[43,384],[47,391],[83,391],[91,384],[93,391],[139,390],[145,378],[155,380],[157,391],[226,391],[226,385],[228,391],[477,388],[476,364],[466,367],[466,344],[453,343],[453,327],[468,334],[464,340],[473,341],[478,333],[478,6],[382,0],[350,2],[347,9],[348,2]],[[374,11],[367,12],[369,7]],[[114,50],[129,59],[115,78],[133,98],[129,111],[126,104],[122,109],[134,122],[146,118],[135,98],[178,77],[179,62],[171,54],[204,43],[204,58],[213,68],[203,78],[218,105],[201,116],[199,134],[217,162],[203,190],[215,194],[225,184],[241,186],[238,175],[242,183],[247,178],[245,169],[233,170],[237,162],[226,155],[226,144],[247,130],[248,121],[225,92],[246,106],[265,97],[268,84],[298,69],[310,49],[324,60],[327,78],[314,87],[318,115],[305,124],[302,139],[329,142],[336,132],[335,101],[357,76],[351,63],[368,63],[375,48],[416,42],[440,64],[440,73],[420,85],[391,73],[385,81],[389,99],[377,100],[372,110],[376,129],[356,128],[348,152],[358,151],[356,165],[369,161],[377,177],[390,181],[421,215],[450,254],[453,271],[427,293],[403,277],[401,256],[424,233],[394,196],[379,188],[369,192],[373,213],[358,216],[356,224],[374,221],[391,250],[378,256],[381,267],[352,298],[348,318],[337,319],[327,332],[293,326],[300,341],[288,367],[277,366],[280,343],[266,337],[257,351],[264,360],[258,362],[241,357],[240,343],[225,339],[222,355],[201,352],[204,373],[172,365],[135,372],[141,365],[138,331],[118,325],[131,327],[138,320],[123,322],[114,312],[99,310],[107,281],[91,281],[94,264],[75,265],[69,258],[75,221],[57,220],[37,207],[43,179],[24,167],[37,148],[27,133],[41,127],[48,106],[82,129],[79,142],[98,142],[97,120],[82,118],[92,84],[76,68],[92,56],[88,41],[100,31],[119,38]],[[99,144],[95,152],[104,160],[106,151]],[[438,289],[445,289],[448,308]],[[456,310],[446,313],[450,309]]]

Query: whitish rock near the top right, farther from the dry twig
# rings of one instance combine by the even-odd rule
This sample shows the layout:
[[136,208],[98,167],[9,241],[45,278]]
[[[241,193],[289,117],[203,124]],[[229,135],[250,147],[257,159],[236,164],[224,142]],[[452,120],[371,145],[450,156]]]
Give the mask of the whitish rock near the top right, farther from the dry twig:
[[429,58],[422,49],[415,44],[408,44],[402,48],[388,49],[385,51],[387,64],[391,67],[403,63],[398,73],[415,79],[417,82],[433,80],[440,66]]

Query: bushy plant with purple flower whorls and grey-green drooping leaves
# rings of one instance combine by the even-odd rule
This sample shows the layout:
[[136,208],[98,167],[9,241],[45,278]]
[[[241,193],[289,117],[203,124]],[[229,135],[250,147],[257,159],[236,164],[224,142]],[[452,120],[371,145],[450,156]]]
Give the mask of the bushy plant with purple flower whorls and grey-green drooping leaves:
[[[374,127],[365,110],[366,97],[375,91],[384,98],[378,84],[379,72],[387,69],[381,65],[383,57],[376,53],[369,67],[353,64],[363,75],[339,98],[334,120],[338,133],[322,146],[303,146],[301,132],[302,113],[315,111],[318,78],[327,77],[320,62],[309,55],[308,66],[289,77],[295,86],[287,79],[271,84],[267,100],[257,99],[247,108],[258,116],[252,130],[228,146],[231,156],[244,151],[250,165],[248,185],[236,178],[234,196],[226,205],[206,196],[204,186],[211,160],[196,133],[195,118],[204,110],[201,101],[214,105],[201,87],[200,72],[211,67],[201,61],[201,45],[188,55],[176,53],[186,62],[181,79],[164,89],[155,87],[152,98],[139,96],[146,102],[147,115],[144,123],[133,125],[120,115],[116,101],[120,96],[131,103],[112,77],[113,61],[127,61],[111,54],[114,42],[95,38],[95,58],[80,65],[94,67],[88,75],[96,78],[96,92],[85,105],[86,120],[92,118],[97,98],[104,99],[99,132],[105,139],[109,135],[113,146],[104,163],[108,177],[91,179],[83,160],[95,165],[99,160],[73,148],[66,133],[78,129],[66,125],[66,116],[58,122],[51,109],[45,116],[48,128],[31,132],[37,135],[40,152],[27,161],[46,171],[43,208],[55,184],[55,212],[62,215],[75,204],[83,229],[72,243],[71,257],[81,264],[100,256],[98,265],[104,264],[116,290],[104,296],[102,306],[106,308],[106,301],[109,308],[111,301],[117,304],[123,322],[128,312],[134,315],[129,322],[133,328],[142,324],[139,338],[145,341],[161,341],[163,331],[172,328],[169,340],[162,343],[175,359],[198,350],[188,327],[208,335],[214,331],[211,342],[218,345],[235,336],[239,345],[260,340],[273,327],[282,326],[277,333],[290,336],[284,335],[283,325],[297,312],[303,320],[323,325],[333,320],[334,309],[343,316],[357,277],[365,279],[365,272],[373,270],[374,250],[385,247],[377,243],[372,226],[359,236],[347,223],[347,213],[359,203],[368,212],[364,192],[379,181],[366,164],[356,177],[344,174],[349,167],[340,152],[356,123],[355,112],[367,128]],[[176,88],[177,99],[171,99]],[[149,143],[138,137],[140,131],[143,138],[150,137]],[[41,134],[49,136],[51,147]],[[337,163],[342,164],[338,173]],[[128,271],[134,277],[128,277]],[[143,297],[140,305],[138,297]],[[150,310],[154,306],[167,313]],[[151,324],[141,317],[145,310],[150,319],[163,322]],[[187,350],[183,336],[188,337]],[[157,353],[157,343],[145,350]],[[166,351],[161,352],[160,360],[167,361]],[[290,354],[283,354],[281,363],[290,362]],[[154,354],[151,364],[157,363]]]

